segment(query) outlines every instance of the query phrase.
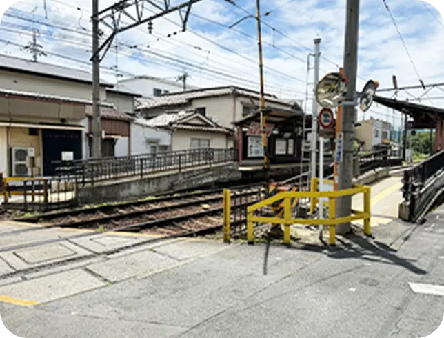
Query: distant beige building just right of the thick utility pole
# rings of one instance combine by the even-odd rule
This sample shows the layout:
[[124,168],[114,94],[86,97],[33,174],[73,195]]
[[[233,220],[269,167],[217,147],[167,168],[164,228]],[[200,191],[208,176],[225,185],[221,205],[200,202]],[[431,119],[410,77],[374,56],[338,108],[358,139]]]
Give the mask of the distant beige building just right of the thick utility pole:
[[390,123],[370,118],[359,124],[356,126],[355,137],[363,143],[362,150],[372,150],[374,146],[390,143]]

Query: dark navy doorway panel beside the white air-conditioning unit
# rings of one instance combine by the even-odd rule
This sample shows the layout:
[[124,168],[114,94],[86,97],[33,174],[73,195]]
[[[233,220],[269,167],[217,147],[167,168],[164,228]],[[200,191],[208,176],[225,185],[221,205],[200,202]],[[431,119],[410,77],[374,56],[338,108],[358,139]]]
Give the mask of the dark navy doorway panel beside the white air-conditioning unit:
[[42,129],[43,176],[55,174],[54,161],[61,161],[62,152],[72,152],[73,159],[82,158],[82,133],[80,130]]

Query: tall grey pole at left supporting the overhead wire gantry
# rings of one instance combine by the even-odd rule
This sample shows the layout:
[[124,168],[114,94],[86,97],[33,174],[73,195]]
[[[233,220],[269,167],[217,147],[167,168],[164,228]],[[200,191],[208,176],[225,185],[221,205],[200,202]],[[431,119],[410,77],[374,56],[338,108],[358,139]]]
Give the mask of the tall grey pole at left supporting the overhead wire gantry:
[[100,121],[99,0],[92,0],[92,157],[102,156]]

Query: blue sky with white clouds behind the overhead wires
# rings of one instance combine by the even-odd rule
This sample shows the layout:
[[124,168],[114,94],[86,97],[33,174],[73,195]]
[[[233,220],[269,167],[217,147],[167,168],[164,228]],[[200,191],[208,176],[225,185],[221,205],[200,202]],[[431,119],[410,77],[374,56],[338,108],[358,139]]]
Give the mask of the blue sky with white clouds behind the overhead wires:
[[[170,1],[171,6],[185,2]],[[396,75],[399,87],[417,86],[419,79],[425,84],[444,82],[444,16],[433,1],[361,1],[356,90],[362,90],[370,79],[379,81],[379,89],[393,88],[392,75]],[[99,10],[114,2],[100,0]],[[163,5],[163,0],[151,2]],[[256,14],[256,1],[232,2],[201,0],[194,4],[185,32],[178,12],[155,19],[151,34],[146,23],[121,32],[101,61],[101,77],[113,83],[143,74],[175,80],[187,72],[190,85],[236,85],[259,90],[256,20],[248,17]],[[0,54],[32,59],[24,47],[37,30],[37,41],[46,53],[39,56],[39,61],[90,71],[92,1],[75,3],[12,0],[12,6],[0,18]],[[345,6],[346,0],[261,0],[265,92],[303,100],[303,108],[311,111],[314,59],[308,54],[319,36],[320,76],[339,69],[344,54]],[[133,16],[134,8],[128,8]],[[145,1],[143,17],[157,12],[159,9]],[[244,17],[248,18],[230,28]],[[121,17],[122,25],[131,22],[129,17]],[[104,23],[100,28],[103,43],[110,29]],[[393,97],[394,92],[379,95]],[[401,90],[397,98],[444,108],[444,86],[428,92],[422,88]],[[359,120],[369,117],[394,123],[396,128],[401,123],[398,112],[376,103],[365,114],[358,111]]]

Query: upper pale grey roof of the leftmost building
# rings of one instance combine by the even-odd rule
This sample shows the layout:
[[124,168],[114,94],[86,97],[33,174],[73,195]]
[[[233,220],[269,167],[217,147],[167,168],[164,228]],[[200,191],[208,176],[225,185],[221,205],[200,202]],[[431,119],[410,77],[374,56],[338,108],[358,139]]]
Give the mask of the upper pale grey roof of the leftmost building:
[[[83,83],[92,83],[92,75],[85,70],[58,66],[50,63],[28,61],[18,57],[10,57],[0,54],[0,69],[9,71],[26,72],[27,74],[39,74],[45,77],[57,77]],[[107,81],[100,81],[103,86],[112,86]]]

